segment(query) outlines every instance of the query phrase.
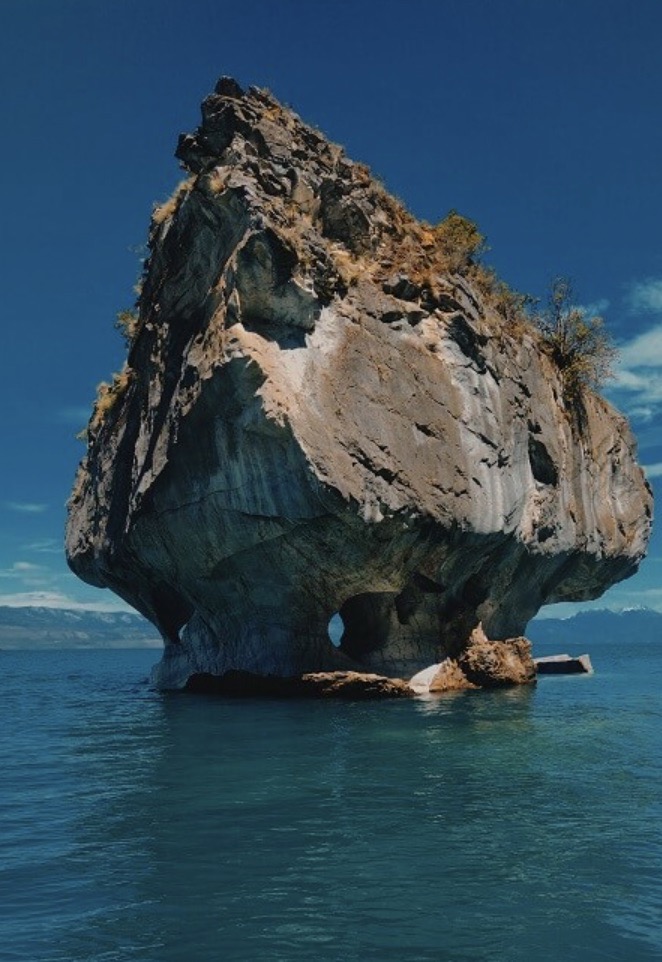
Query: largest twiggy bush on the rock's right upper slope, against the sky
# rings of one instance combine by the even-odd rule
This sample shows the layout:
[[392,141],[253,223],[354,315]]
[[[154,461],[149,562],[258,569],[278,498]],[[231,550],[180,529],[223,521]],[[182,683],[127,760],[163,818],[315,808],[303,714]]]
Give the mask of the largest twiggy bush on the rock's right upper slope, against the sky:
[[569,400],[586,388],[598,390],[613,377],[618,351],[603,319],[574,304],[567,277],[552,281],[547,307],[534,315],[534,321],[561,372]]

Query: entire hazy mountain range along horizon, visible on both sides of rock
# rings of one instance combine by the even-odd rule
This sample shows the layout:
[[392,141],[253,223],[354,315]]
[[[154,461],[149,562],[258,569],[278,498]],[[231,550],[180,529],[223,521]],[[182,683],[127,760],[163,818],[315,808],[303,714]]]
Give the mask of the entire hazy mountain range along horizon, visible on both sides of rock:
[[[538,618],[527,638],[554,644],[559,651],[595,648],[601,641],[662,642],[662,612],[651,608],[581,611],[571,618]],[[70,608],[0,606],[0,649],[17,648],[160,648],[153,625],[133,612]]]

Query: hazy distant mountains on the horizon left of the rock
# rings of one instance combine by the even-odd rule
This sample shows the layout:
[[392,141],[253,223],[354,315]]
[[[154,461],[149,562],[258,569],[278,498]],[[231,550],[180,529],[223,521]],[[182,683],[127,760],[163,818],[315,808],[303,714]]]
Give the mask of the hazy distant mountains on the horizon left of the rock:
[[0,606],[0,649],[157,648],[156,628],[132,612]]

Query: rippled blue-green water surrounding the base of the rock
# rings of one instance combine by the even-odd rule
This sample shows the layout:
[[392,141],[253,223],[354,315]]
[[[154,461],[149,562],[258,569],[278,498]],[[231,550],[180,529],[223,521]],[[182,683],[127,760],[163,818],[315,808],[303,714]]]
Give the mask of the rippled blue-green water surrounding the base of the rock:
[[0,956],[662,959],[662,645],[589,648],[593,677],[367,704],[0,652]]

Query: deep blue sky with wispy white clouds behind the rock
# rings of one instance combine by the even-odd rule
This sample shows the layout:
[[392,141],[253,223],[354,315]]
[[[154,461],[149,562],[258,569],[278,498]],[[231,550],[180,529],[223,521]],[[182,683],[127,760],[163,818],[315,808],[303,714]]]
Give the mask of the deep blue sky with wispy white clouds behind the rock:
[[[218,76],[269,87],[417,215],[557,274],[621,346],[608,396],[662,488],[659,0],[2,0],[0,604],[116,607],[62,555],[95,388],[121,367],[177,136]],[[600,605],[662,610],[662,535]],[[556,606],[550,614],[577,606]]]

